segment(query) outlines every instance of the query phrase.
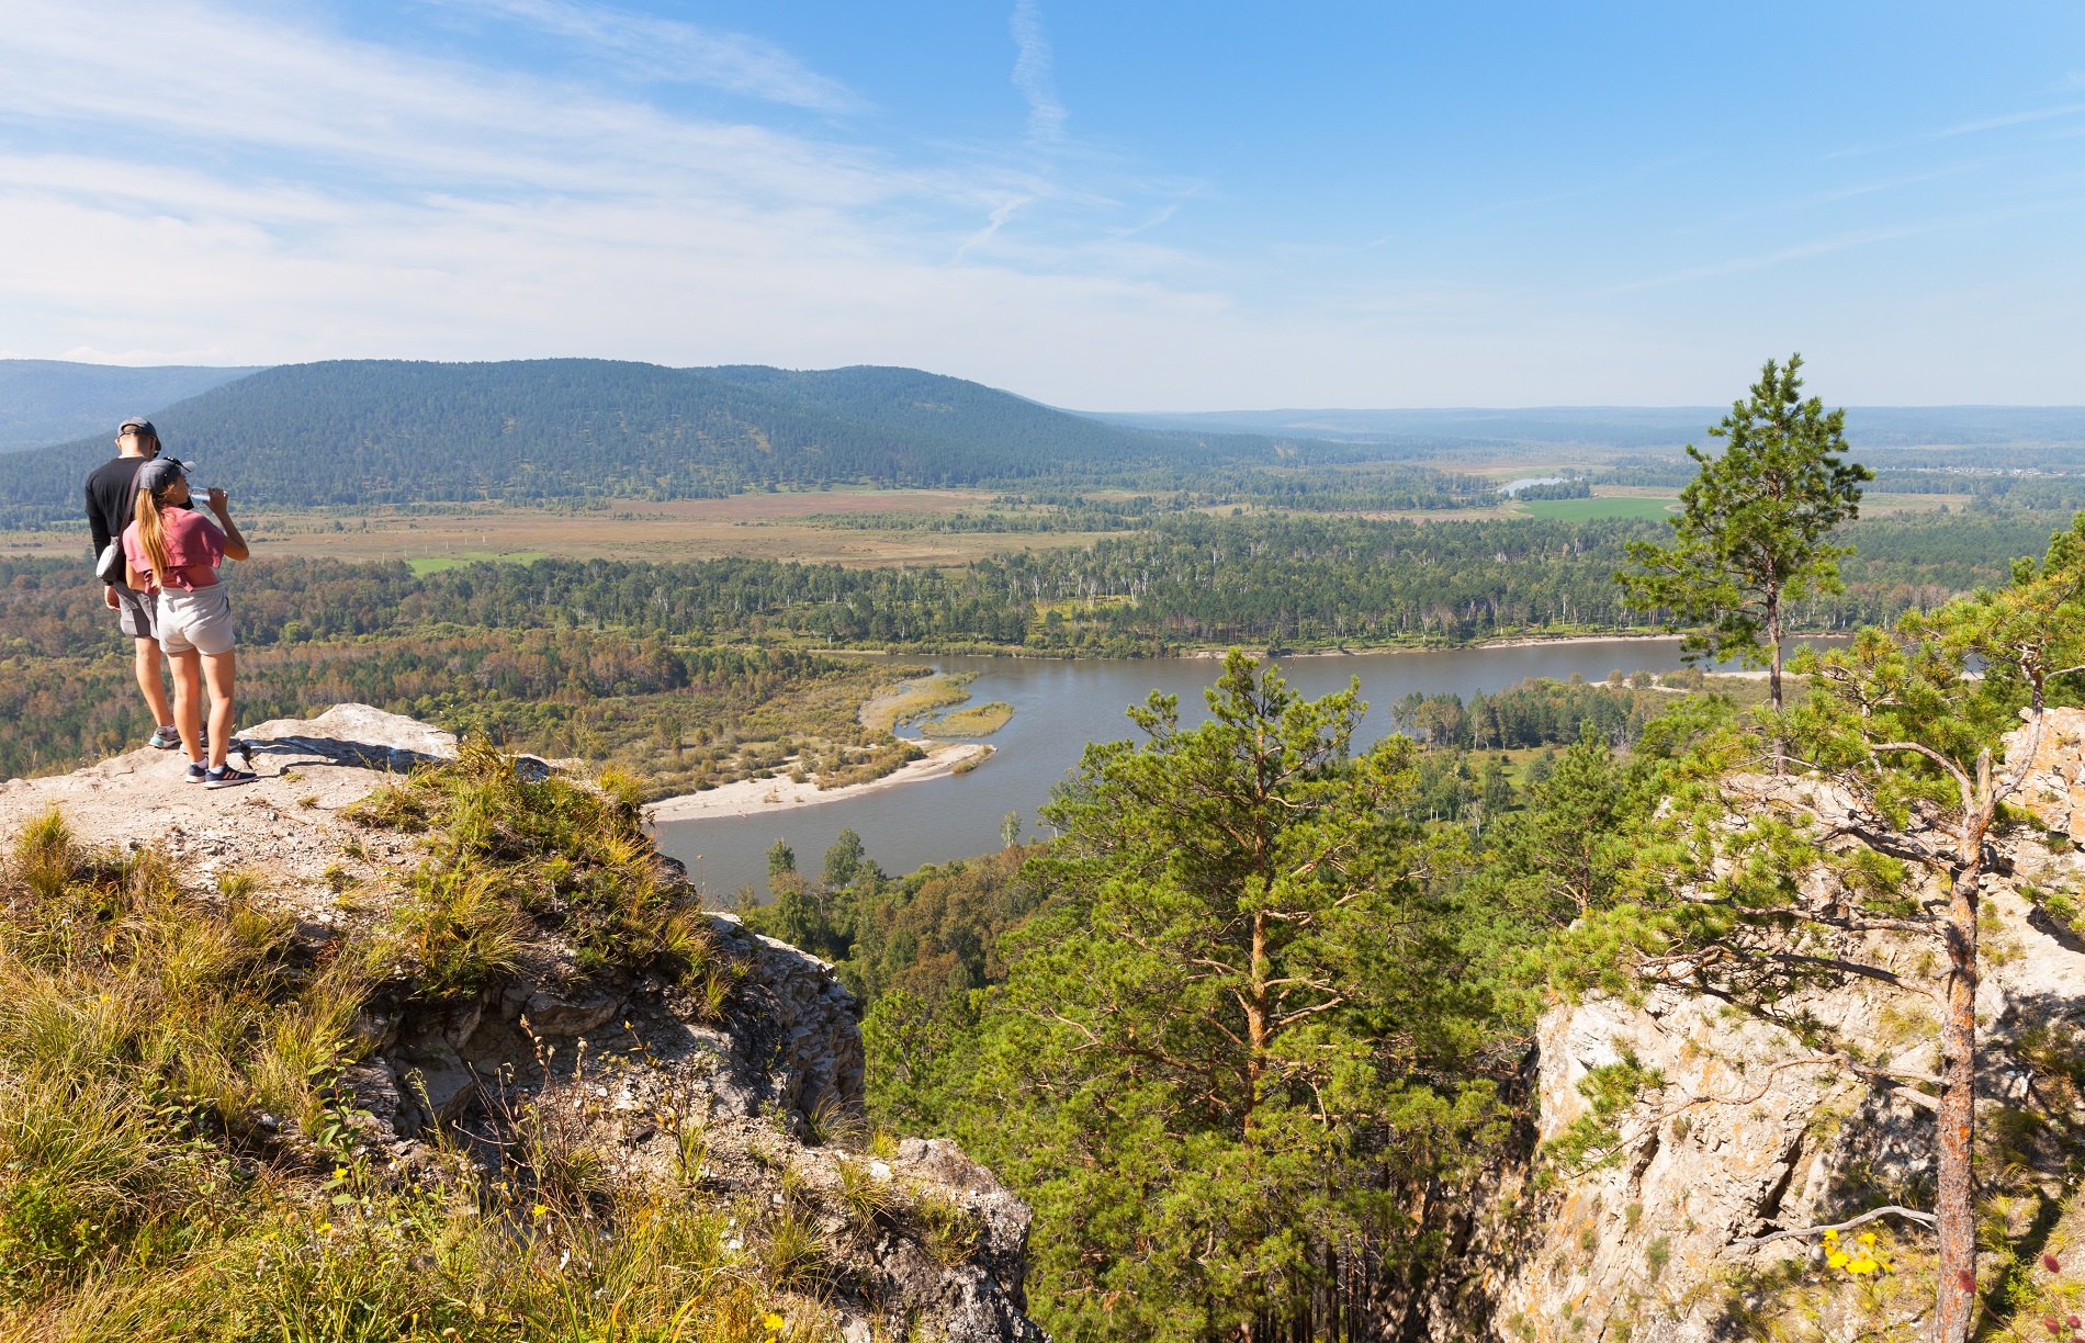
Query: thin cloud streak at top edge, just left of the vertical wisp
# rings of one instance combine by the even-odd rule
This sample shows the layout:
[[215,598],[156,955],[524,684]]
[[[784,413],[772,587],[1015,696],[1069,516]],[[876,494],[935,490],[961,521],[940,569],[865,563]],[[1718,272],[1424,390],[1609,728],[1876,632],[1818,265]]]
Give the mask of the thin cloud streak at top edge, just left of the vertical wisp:
[[863,100],[847,86],[807,69],[771,42],[744,33],[717,33],[692,23],[567,0],[438,2],[578,42],[642,79],[703,83],[819,113],[863,108]]

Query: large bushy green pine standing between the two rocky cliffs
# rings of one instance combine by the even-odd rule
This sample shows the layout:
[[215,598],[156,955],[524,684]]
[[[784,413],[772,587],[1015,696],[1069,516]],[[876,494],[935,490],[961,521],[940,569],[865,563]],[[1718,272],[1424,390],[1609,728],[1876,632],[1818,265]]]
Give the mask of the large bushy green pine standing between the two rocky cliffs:
[[1086,751],[1030,863],[1053,903],[1011,934],[963,1066],[901,1097],[1034,1201],[1059,1339],[1378,1310],[1497,1116],[1441,895],[1460,832],[1407,820],[1414,744],[1351,757],[1355,690],[1305,703],[1238,653],[1209,707],[1182,730],[1153,697],[1143,744]]

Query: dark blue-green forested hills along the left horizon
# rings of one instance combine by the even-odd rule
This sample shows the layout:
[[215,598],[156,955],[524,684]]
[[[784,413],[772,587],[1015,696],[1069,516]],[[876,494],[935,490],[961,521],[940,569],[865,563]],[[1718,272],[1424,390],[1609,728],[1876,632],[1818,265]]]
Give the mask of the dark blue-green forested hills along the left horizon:
[[[938,377],[855,367],[667,369],[600,359],[265,369],[154,421],[252,505],[698,498],[767,484],[951,486],[1293,457],[1259,436],[1153,434]],[[0,457],[0,521],[69,517],[108,455]]]

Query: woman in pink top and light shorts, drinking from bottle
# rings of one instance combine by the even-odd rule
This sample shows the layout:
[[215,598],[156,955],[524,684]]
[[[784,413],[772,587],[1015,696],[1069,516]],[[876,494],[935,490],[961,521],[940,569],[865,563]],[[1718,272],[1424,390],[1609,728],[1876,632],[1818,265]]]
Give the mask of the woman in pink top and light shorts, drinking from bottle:
[[[225,559],[246,559],[225,492],[211,490],[213,526],[188,505],[188,467],[156,457],[138,467],[138,513],[123,530],[129,586],[158,592],[158,646],[173,663],[173,722],[188,749],[188,782],[206,788],[250,784],[225,763],[236,680],[231,601],[217,578]],[[202,682],[211,688],[211,761],[202,763]]]

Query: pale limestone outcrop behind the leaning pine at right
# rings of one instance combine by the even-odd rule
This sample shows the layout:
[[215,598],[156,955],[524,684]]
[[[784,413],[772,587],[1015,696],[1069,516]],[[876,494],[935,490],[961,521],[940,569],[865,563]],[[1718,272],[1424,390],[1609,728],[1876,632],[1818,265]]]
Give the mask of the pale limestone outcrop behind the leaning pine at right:
[[[2043,907],[2050,893],[2085,882],[2085,859],[2066,843],[2085,828],[2085,711],[2050,717],[2022,792],[2047,830],[2008,828],[2002,874],[1987,882],[1977,999],[1985,1122],[2035,1086],[2022,1041],[2085,1026],[2085,945]],[[2029,734],[2014,732],[2008,744],[2016,765]],[[1899,966],[1916,955],[1904,947]],[[1937,1061],[1935,1022],[1902,999],[1849,988],[1804,1005],[1870,1057],[1887,1053],[1916,1070]],[[1747,1305],[1737,1283],[1814,1253],[1804,1239],[1733,1241],[1831,1222],[1889,1201],[1881,1191],[1931,1180],[1933,1112],[1922,1097],[1797,1064],[1779,1030],[1672,995],[1641,1007],[1595,999],[1543,1018],[1537,1141],[1570,1128],[1589,1107],[1578,1082],[1624,1053],[1660,1070],[1666,1086],[1624,1116],[1614,1166],[1545,1193],[1520,1185],[1522,1232],[1491,1257],[1482,1291],[1493,1337],[1728,1337]]]

